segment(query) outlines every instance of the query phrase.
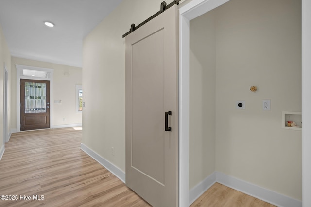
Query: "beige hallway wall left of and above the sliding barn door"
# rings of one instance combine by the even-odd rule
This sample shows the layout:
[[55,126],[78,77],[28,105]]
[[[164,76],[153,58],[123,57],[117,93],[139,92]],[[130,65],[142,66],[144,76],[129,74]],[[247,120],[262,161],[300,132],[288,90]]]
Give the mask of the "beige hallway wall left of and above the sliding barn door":
[[[160,10],[162,0],[124,0],[84,39],[83,141],[125,172],[125,39]],[[111,147],[115,148],[112,156]]]

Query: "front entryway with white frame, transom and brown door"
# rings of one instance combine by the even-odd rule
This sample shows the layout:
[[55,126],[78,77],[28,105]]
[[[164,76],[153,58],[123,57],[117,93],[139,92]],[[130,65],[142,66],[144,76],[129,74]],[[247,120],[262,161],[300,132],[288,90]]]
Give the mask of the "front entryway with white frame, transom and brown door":
[[[53,69],[25,65],[16,65],[16,69],[17,132],[53,128],[53,102],[50,101],[53,100]],[[23,88],[21,89],[22,80],[29,81],[24,81]],[[49,87],[47,87],[48,85]],[[26,100],[23,99],[21,95],[23,95],[23,98],[26,98]],[[50,95],[49,100],[46,99],[46,95]],[[42,116],[42,114],[45,115]],[[47,116],[47,114],[49,114],[49,116]],[[39,115],[39,117],[35,115]],[[25,126],[22,126],[26,123],[25,121],[28,123],[26,125],[33,125],[33,127],[25,128]],[[45,124],[42,124],[43,122]]]

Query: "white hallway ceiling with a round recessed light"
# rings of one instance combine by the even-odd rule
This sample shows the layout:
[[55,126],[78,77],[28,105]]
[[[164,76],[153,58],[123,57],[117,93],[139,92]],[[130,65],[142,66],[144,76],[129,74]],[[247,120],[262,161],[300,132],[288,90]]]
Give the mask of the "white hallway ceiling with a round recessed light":
[[83,38],[120,2],[0,0],[0,24],[12,56],[82,67]]

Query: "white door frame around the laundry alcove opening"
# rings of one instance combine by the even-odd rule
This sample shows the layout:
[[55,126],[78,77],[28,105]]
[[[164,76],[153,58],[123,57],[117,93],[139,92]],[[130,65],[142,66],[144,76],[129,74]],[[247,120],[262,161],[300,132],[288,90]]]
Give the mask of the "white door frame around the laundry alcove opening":
[[[189,206],[190,20],[229,0],[192,0],[179,9],[179,204]],[[302,122],[311,125],[311,2],[302,0]],[[302,130],[302,204],[311,206],[311,128]]]

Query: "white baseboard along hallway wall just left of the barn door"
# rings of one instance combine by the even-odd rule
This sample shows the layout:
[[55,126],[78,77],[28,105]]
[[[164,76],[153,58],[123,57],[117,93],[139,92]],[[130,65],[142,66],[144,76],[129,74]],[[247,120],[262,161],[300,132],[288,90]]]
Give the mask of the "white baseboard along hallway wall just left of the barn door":
[[99,154],[94,152],[92,149],[88,148],[86,145],[81,143],[81,150],[88,154],[91,158],[95,159],[98,163],[104,166],[109,170],[113,175],[118,177],[123,183],[125,183],[125,173],[121,171],[118,167],[101,157]]

